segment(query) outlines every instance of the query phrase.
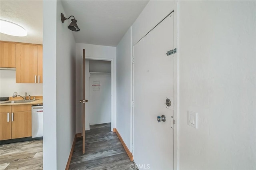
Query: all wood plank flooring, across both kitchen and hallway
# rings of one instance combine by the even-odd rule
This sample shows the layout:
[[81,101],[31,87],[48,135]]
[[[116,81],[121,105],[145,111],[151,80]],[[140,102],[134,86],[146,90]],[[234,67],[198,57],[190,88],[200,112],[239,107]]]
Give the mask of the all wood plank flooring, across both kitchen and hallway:
[[[134,166],[110,123],[92,125],[86,130],[85,154],[82,137],[76,139],[70,170],[130,170]],[[43,169],[43,142],[34,140],[0,145],[0,170]]]

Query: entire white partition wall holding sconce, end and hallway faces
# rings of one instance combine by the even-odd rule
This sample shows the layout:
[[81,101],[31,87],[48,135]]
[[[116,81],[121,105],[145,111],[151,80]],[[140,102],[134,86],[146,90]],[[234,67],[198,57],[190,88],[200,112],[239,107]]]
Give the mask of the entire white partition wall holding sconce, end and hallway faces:
[[44,169],[65,169],[76,128],[75,40],[61,1],[44,1]]

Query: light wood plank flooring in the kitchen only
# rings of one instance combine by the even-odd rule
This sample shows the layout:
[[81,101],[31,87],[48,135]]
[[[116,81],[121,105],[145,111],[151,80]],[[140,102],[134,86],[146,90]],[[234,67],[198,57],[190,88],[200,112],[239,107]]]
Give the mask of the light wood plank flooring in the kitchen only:
[[0,170],[42,170],[43,140],[0,145]]

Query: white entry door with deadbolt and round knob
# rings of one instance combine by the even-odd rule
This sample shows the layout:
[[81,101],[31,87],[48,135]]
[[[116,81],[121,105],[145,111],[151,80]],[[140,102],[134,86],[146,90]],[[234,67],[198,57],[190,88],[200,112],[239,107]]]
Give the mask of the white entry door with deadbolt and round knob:
[[[139,169],[173,169],[174,55],[166,55],[173,48],[173,13],[134,45],[134,162]],[[158,123],[162,115],[166,121]]]

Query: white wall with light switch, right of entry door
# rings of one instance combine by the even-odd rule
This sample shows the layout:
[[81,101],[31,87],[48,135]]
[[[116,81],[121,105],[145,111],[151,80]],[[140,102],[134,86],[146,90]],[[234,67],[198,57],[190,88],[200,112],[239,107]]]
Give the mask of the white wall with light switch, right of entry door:
[[180,169],[256,169],[255,6],[178,4]]

